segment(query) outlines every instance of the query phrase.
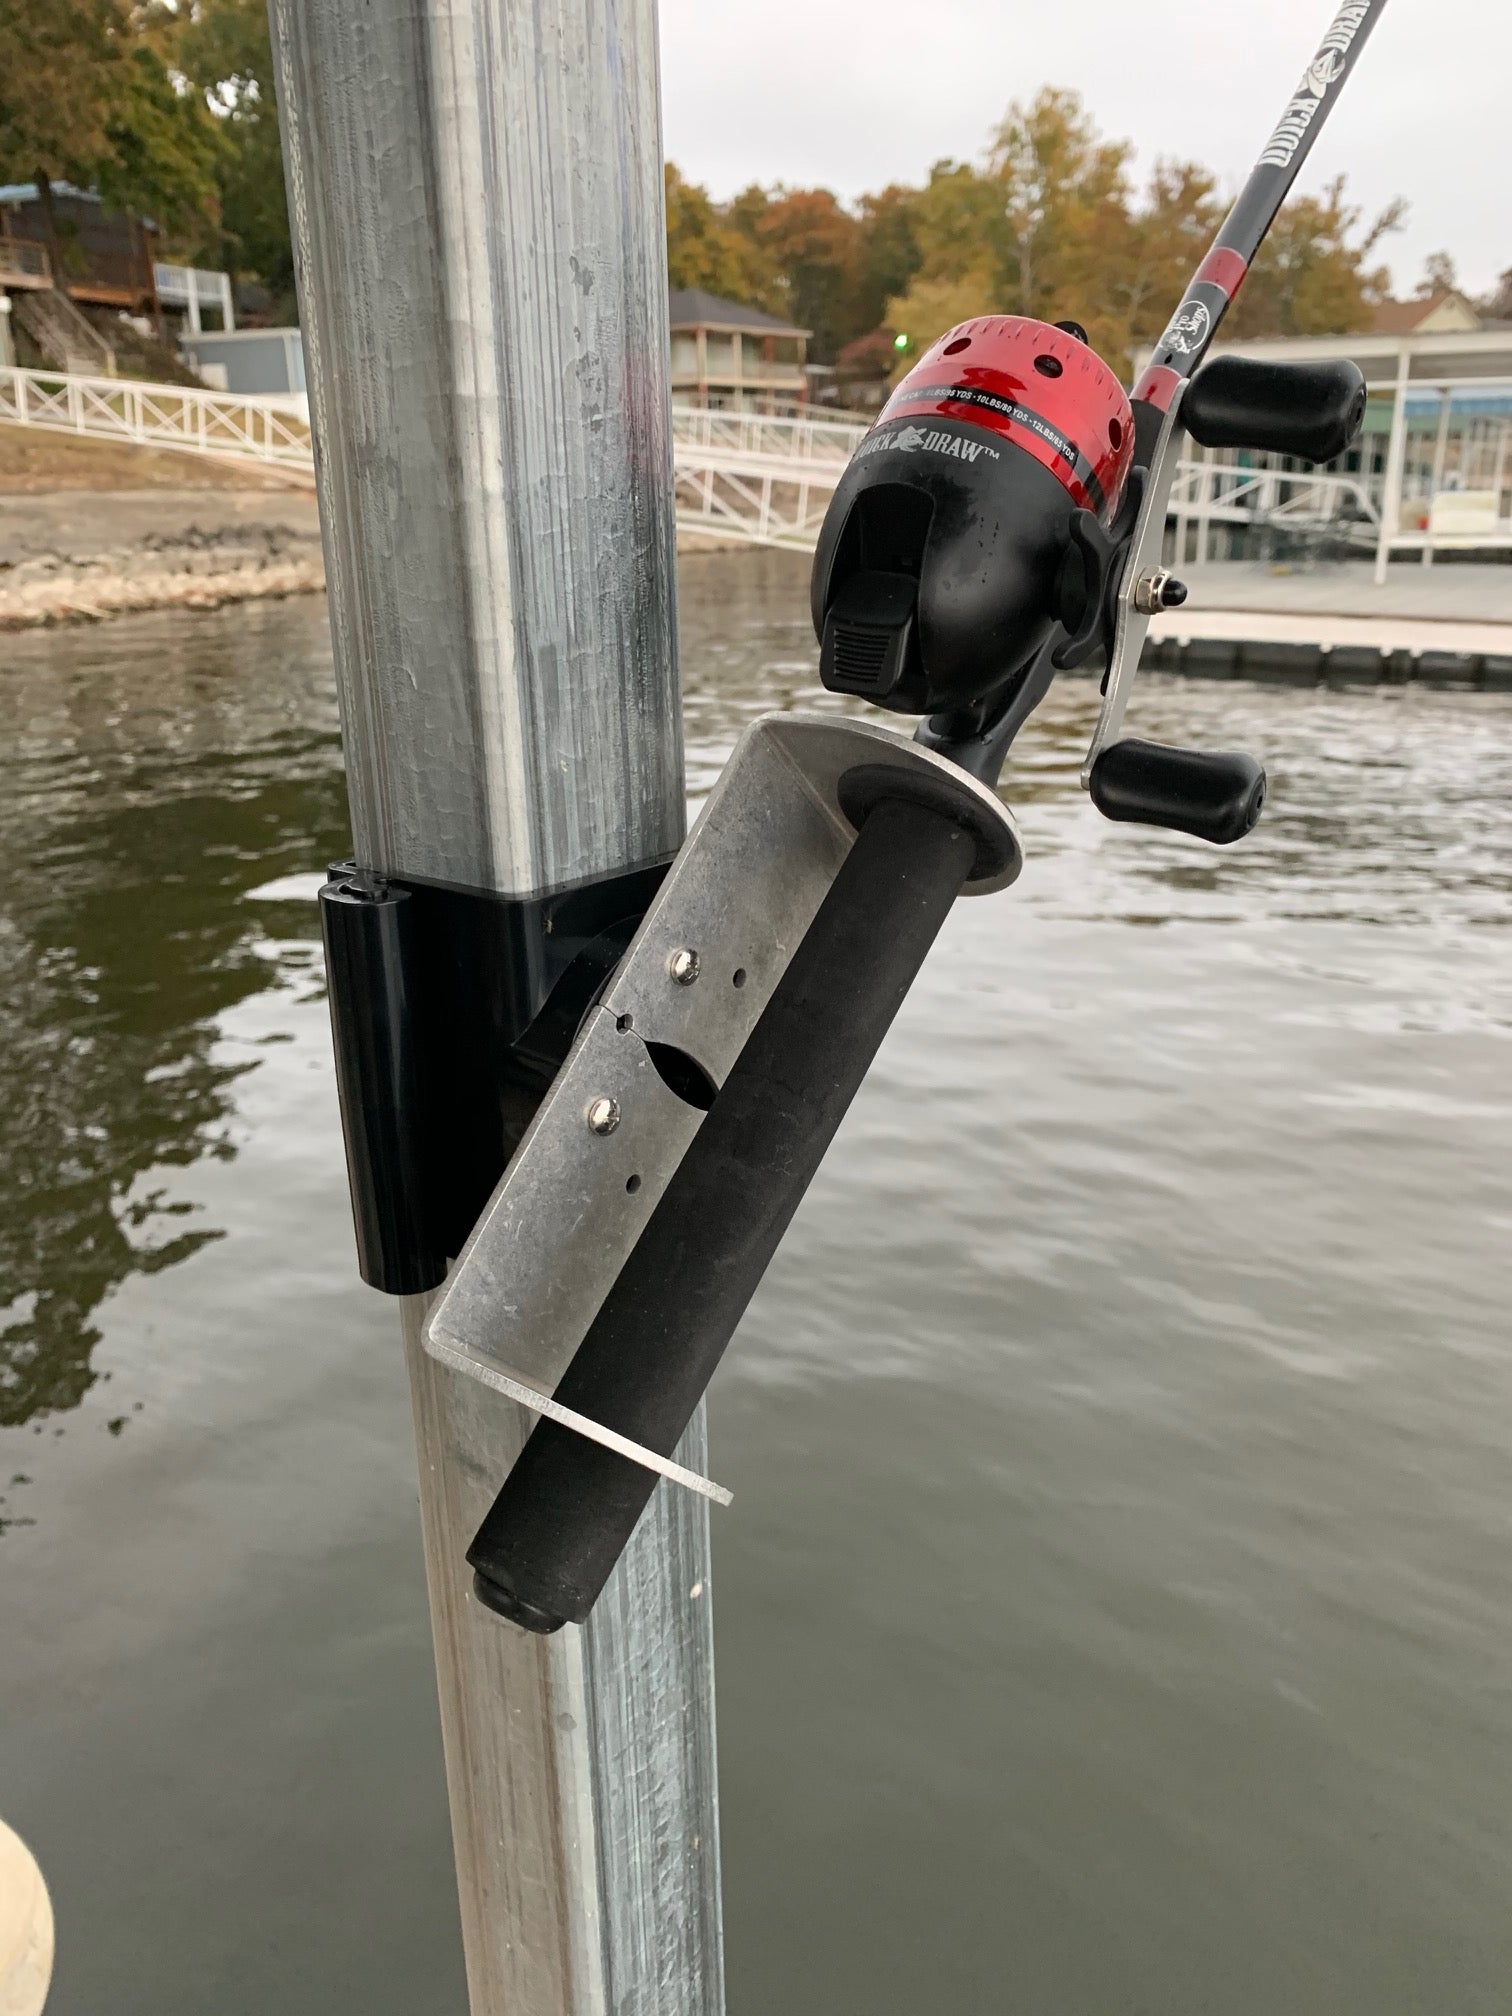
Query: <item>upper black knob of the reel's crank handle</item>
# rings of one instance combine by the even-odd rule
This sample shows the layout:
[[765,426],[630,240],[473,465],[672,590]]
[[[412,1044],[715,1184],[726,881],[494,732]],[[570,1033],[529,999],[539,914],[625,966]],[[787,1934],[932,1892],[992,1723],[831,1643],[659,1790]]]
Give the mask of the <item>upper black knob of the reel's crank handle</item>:
[[1278,365],[1214,357],[1191,379],[1181,425],[1202,448],[1260,448],[1302,462],[1333,462],[1365,421],[1365,377],[1347,359]]

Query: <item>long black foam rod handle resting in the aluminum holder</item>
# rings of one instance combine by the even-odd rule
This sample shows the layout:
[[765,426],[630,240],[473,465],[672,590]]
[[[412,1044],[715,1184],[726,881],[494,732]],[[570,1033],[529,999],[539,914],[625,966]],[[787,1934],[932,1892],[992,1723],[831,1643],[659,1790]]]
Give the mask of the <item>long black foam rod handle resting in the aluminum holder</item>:
[[[887,798],[867,816],[562,1373],[562,1405],[671,1456],[974,859],[943,812]],[[655,1484],[538,1421],[468,1548],[478,1599],[530,1631],[581,1623]]]

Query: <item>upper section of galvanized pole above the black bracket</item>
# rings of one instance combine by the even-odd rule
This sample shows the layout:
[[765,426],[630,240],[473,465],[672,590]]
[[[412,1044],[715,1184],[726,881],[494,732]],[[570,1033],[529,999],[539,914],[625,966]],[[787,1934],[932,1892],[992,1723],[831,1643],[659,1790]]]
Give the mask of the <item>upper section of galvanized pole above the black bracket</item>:
[[294,234],[321,244],[304,355],[369,865],[522,895],[665,859],[655,4],[272,0],[272,20]]

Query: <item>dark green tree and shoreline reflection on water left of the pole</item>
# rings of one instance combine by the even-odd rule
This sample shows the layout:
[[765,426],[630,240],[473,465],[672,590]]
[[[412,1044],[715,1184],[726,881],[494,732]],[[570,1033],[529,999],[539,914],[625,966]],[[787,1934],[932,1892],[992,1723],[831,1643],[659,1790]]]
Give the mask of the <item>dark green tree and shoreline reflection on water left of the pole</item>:
[[240,901],[347,847],[321,631],[268,659],[268,615],[22,639],[0,687],[0,1427],[79,1405],[103,1300],[220,1236],[173,1187],[236,1153],[216,1024],[314,950],[308,903]]

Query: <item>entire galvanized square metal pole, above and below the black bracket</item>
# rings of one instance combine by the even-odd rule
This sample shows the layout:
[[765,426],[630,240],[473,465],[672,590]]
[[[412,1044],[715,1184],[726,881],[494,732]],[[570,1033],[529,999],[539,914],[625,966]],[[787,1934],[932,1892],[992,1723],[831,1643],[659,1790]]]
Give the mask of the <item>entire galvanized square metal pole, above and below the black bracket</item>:
[[[530,895],[683,831],[655,0],[270,0],[357,857]],[[472,2016],[724,2008],[708,1506],[482,1611],[528,1417],[405,1306]],[[681,1460],[704,1468],[702,1415]]]

